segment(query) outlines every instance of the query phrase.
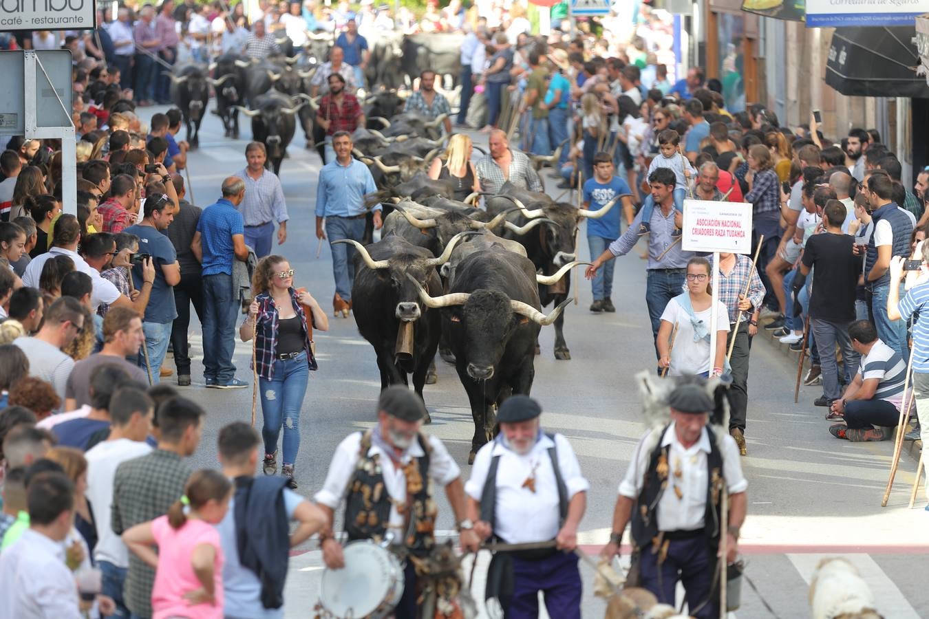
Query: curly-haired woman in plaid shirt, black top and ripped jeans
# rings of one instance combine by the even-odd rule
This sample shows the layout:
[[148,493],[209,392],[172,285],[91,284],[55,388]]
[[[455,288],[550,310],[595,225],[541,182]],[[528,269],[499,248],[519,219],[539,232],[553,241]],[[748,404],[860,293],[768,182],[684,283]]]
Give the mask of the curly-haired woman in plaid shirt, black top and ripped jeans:
[[[255,373],[261,393],[261,430],[265,441],[263,469],[278,468],[278,437],[283,428],[281,474],[296,489],[294,463],[300,448],[300,408],[307,393],[309,370],[317,368],[312,329],[329,329],[320,303],[306,290],[294,290],[294,269],[282,256],[258,261],[252,277],[255,300],[242,323],[242,342],[255,337]],[[307,316],[308,310],[308,316]]]

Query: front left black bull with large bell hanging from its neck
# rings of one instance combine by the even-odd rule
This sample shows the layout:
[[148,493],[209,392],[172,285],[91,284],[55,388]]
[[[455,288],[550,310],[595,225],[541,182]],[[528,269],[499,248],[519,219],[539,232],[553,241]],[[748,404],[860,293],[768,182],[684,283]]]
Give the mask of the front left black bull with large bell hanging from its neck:
[[407,375],[412,374],[413,390],[423,397],[426,372],[438,347],[440,317],[420,300],[415,286],[441,290],[436,267],[449,259],[460,238],[451,239],[448,251],[438,258],[394,235],[367,248],[351,239],[334,241],[356,250],[353,314],[377,356],[381,389],[409,384]]

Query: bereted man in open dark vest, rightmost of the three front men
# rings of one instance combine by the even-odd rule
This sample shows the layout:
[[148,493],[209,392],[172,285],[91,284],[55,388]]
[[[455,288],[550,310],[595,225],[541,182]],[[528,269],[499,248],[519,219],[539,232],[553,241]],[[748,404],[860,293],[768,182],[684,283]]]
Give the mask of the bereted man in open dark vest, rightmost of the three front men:
[[[699,379],[697,379],[699,380]],[[619,554],[622,532],[632,522],[633,564],[626,587],[645,587],[660,602],[674,605],[680,581],[687,613],[719,616],[715,576],[722,535],[727,562],[739,551],[748,482],[739,447],[726,429],[707,425],[713,399],[702,381],[680,384],[668,397],[671,423],[649,431],[626,471],[613,512],[612,533],[602,556]],[[720,531],[723,484],[729,493],[727,531]],[[637,574],[636,574],[637,568]],[[724,576],[725,577],[725,574]]]

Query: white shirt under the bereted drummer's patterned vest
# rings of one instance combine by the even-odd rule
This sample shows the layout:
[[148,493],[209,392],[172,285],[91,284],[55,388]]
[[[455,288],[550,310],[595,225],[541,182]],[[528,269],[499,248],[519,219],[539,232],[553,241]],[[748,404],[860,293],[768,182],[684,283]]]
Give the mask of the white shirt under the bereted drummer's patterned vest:
[[[448,449],[435,436],[428,437],[429,445],[432,452],[429,454],[429,477],[432,480],[445,487],[451,484],[461,475],[461,470],[455,461],[451,459]],[[355,466],[358,464],[359,451],[361,448],[361,432],[352,432],[342,443],[335,448],[333,461],[329,464],[329,473],[326,475],[326,481],[322,484],[322,489],[316,493],[314,499],[331,509],[338,509],[345,496],[348,488],[348,482],[355,472]],[[403,452],[400,458],[400,464],[406,465],[412,458],[423,456],[423,448],[419,445],[418,440],[414,440],[412,445]],[[378,456],[381,464],[381,471],[384,475],[384,487],[387,494],[390,495],[393,505],[390,508],[390,518],[388,528],[397,535],[398,539],[403,539],[403,517],[397,511],[397,504],[406,503],[406,475],[402,469],[394,466],[394,461],[390,455],[386,454],[379,446],[372,443],[368,450],[368,456]]]

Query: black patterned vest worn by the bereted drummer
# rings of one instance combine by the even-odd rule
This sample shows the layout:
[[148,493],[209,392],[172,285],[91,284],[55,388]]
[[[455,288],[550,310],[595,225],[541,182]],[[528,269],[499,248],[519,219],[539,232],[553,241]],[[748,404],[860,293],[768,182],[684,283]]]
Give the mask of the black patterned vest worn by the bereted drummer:
[[[431,447],[425,436],[417,434],[424,455],[414,458],[406,474],[407,504],[398,504],[404,517],[404,546],[411,554],[425,557],[435,546],[438,506],[432,500],[429,480]],[[345,526],[349,541],[373,539],[381,541],[390,521],[393,499],[387,494],[384,471],[378,456],[369,456],[371,431],[363,432],[358,464],[348,481]]]

